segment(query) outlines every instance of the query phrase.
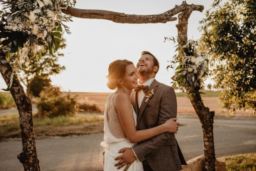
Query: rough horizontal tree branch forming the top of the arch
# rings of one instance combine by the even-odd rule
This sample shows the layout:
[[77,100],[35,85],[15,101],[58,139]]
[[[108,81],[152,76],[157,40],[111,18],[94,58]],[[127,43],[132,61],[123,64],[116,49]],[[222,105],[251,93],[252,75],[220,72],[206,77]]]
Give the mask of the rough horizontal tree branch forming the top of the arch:
[[170,10],[152,15],[125,14],[108,10],[78,9],[71,6],[68,6],[66,9],[62,9],[62,12],[74,17],[107,19],[117,23],[165,23],[167,21],[176,20],[177,18],[172,16],[177,13],[188,9],[198,10],[201,12],[203,8],[203,5],[187,4],[183,1],[181,5],[175,5],[175,7]]

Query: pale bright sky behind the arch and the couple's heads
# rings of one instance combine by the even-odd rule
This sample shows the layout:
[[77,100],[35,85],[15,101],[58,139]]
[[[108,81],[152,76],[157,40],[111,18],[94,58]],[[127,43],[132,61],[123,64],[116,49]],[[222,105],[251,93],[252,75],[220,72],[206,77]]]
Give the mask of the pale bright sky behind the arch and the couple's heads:
[[[188,39],[198,39],[199,20],[211,7],[213,0],[186,0],[187,4],[200,4],[204,10],[193,11],[188,19]],[[158,14],[180,5],[182,0],[76,0],[75,7],[82,9],[103,9],[126,14]],[[177,15],[174,15],[177,16]],[[141,51],[150,51],[157,57],[160,67],[155,79],[171,85],[174,69],[166,70],[169,60],[175,54],[171,41],[164,37],[176,37],[178,20],[166,23],[127,24],[103,19],[72,18],[66,23],[71,34],[64,33],[66,48],[59,63],[65,70],[50,76],[52,84],[62,91],[112,92],[106,86],[108,65],[116,59],[127,59],[136,64]],[[206,83],[210,80],[206,80]],[[0,87],[6,84],[0,77]]]

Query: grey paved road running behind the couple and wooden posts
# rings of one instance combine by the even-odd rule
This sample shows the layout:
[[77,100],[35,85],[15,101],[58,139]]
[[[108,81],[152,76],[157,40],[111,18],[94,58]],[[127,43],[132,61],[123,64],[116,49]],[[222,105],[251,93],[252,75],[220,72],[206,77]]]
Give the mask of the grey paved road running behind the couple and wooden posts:
[[[197,118],[179,118],[176,139],[186,160],[203,153],[202,130]],[[256,152],[256,119],[215,119],[216,157]],[[41,170],[102,170],[103,134],[36,140]],[[20,141],[0,142],[0,170],[23,170],[16,158]]]

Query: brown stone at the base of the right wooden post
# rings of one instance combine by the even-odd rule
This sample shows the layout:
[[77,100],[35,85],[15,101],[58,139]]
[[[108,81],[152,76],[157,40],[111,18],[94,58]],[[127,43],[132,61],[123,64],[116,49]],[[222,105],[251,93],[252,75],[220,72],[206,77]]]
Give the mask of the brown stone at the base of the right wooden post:
[[[203,154],[195,158],[189,159],[188,161],[186,161],[187,165],[183,166],[182,171],[202,171],[203,159]],[[225,163],[215,160],[215,170],[226,171]]]

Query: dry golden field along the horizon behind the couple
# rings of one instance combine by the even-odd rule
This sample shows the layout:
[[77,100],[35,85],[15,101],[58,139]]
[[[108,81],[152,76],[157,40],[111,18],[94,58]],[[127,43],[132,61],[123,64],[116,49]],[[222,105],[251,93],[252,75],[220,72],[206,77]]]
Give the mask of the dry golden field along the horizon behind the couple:
[[[105,108],[105,101],[107,96],[110,94],[109,92],[70,92],[72,96],[76,96],[78,102],[88,102],[97,104],[100,109],[103,111]],[[228,112],[224,111],[221,108],[221,104],[218,100],[218,97],[202,97],[203,103],[206,107],[209,107],[210,110],[215,111],[215,117],[223,117],[228,114]],[[177,115],[178,117],[197,117],[194,109],[187,97],[177,96]],[[251,115],[251,110],[237,110],[234,115],[228,115],[228,117],[234,116],[252,116],[256,117],[256,115]]]

